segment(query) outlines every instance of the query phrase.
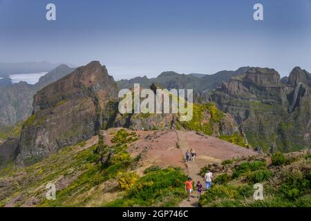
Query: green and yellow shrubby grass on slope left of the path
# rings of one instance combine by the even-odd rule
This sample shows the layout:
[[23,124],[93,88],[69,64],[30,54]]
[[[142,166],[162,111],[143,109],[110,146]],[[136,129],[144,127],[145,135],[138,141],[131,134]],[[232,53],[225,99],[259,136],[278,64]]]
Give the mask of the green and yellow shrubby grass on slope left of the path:
[[[113,146],[86,142],[62,148],[45,160],[0,171],[0,206],[176,206],[185,198],[180,169],[151,170],[143,177],[133,171],[140,156],[126,152],[138,140],[118,131]],[[46,184],[55,183],[56,200],[46,200]],[[121,201],[118,199],[122,199]]]

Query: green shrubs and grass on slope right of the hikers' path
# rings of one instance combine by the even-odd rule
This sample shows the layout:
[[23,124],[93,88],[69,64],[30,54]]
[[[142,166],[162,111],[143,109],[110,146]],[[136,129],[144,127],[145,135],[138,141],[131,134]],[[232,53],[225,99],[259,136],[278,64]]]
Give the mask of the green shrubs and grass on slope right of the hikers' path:
[[[279,153],[278,153],[279,154]],[[311,157],[307,151],[286,155],[280,165],[266,159],[232,160],[223,166],[207,166],[216,177],[200,206],[311,206]],[[277,166],[275,164],[278,164]],[[202,173],[207,168],[202,169]],[[231,171],[231,172],[225,172]],[[263,200],[254,200],[254,184],[263,184]]]

